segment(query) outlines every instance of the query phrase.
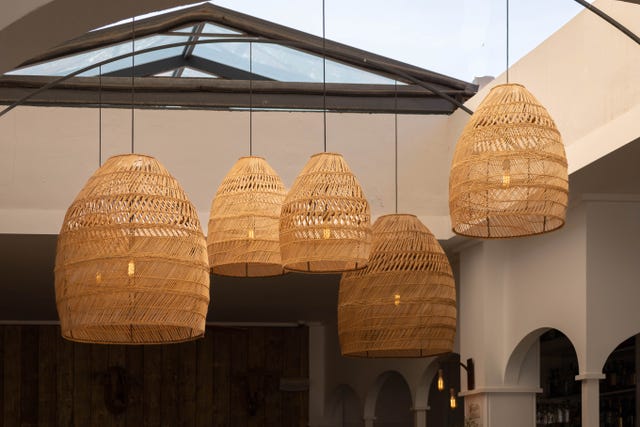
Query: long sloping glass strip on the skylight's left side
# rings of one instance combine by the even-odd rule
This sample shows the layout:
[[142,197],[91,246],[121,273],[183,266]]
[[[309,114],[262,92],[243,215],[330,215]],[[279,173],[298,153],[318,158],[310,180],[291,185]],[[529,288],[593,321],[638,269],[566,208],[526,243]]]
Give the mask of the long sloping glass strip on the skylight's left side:
[[[188,37],[182,36],[167,36],[157,35],[151,37],[145,37],[136,40],[136,50],[147,49],[155,46],[162,46],[170,43],[180,43],[188,40]],[[147,62],[157,61],[159,59],[169,58],[176,55],[181,55],[184,47],[174,47],[169,49],[162,49],[153,52],[143,53],[136,55],[135,63],[144,64]],[[131,42],[123,42],[117,45],[108,46],[105,48],[93,50],[90,52],[81,53],[78,55],[68,56],[66,58],[56,59],[54,61],[45,62],[23,69],[10,71],[7,74],[15,75],[28,75],[28,76],[64,76],[72,73],[81,68],[87,67],[91,64],[96,64],[101,61],[105,61],[109,58],[115,58],[120,55],[131,52]],[[102,73],[109,73],[111,71],[128,68],[131,66],[131,58],[125,58],[105,64],[102,67]],[[97,68],[89,70],[80,74],[80,76],[97,76],[99,70]]]

